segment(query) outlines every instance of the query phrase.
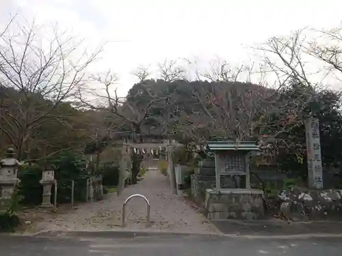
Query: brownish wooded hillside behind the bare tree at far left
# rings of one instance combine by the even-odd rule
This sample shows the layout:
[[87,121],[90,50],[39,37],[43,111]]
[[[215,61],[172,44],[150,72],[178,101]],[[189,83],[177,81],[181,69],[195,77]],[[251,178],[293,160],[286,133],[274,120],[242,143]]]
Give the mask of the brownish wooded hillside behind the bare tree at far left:
[[0,87],[0,152],[11,146],[18,158],[31,159],[82,147],[94,132],[92,113],[38,93]]

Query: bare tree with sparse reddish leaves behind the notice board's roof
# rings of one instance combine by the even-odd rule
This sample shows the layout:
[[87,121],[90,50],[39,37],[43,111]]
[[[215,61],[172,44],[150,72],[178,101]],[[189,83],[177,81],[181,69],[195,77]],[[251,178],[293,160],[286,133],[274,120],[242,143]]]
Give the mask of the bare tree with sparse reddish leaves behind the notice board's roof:
[[240,83],[239,76],[246,70],[244,66],[232,68],[222,59],[211,62],[206,72],[195,70],[196,80],[187,90],[193,109],[179,117],[177,128],[196,143],[213,136],[252,139],[254,117],[268,92],[262,85]]

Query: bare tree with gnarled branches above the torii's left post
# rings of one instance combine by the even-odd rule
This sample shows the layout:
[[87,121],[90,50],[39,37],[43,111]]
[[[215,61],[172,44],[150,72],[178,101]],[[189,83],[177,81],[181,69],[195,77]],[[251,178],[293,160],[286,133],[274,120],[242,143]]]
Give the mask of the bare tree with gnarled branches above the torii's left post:
[[[146,68],[140,68],[135,76],[139,82],[135,84],[127,96],[118,95],[117,81],[118,78],[114,72],[108,70],[105,74],[97,74],[91,76],[98,86],[103,88],[102,93],[98,92],[99,87],[94,87],[90,90],[89,98],[86,97],[84,91],[79,91],[78,98],[82,106],[85,106],[96,111],[106,111],[110,115],[111,120],[115,120],[116,124],[122,124],[122,127],[114,127],[111,133],[122,131],[129,132],[135,137],[135,142],[142,142],[145,135],[150,135],[152,126],[157,126],[154,135],[163,133],[163,124],[167,122],[166,113],[168,99],[172,98],[173,94],[168,91],[163,91],[163,88],[155,87],[155,81],[148,79],[150,72]],[[171,77],[171,76],[170,76]],[[172,76],[176,77],[176,76]],[[92,99],[93,100],[92,100]],[[142,162],[141,152],[132,152],[132,182],[137,182],[137,174],[140,170],[140,162]],[[120,170],[120,184],[123,186],[125,170]]]

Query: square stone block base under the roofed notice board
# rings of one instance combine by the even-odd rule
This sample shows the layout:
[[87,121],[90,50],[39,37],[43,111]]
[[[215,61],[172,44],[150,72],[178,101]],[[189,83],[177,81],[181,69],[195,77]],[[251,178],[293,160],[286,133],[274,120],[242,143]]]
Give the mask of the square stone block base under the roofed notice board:
[[265,217],[263,191],[246,188],[205,190],[207,218],[254,220]]

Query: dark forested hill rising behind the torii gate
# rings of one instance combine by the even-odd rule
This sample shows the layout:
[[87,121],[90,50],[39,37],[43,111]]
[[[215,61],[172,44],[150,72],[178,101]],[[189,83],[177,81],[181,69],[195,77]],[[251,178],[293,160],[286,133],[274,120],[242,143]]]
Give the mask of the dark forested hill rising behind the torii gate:
[[159,134],[168,128],[168,132],[190,134],[194,133],[192,129],[205,126],[213,133],[224,130],[226,136],[245,134],[243,130],[250,129],[252,115],[272,99],[272,94],[272,89],[252,83],[148,80],[133,85],[123,108],[132,117],[132,107],[139,109],[140,116],[150,108],[142,122],[144,132]]

